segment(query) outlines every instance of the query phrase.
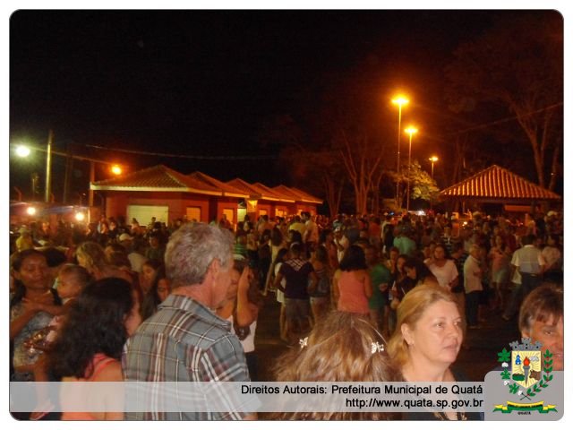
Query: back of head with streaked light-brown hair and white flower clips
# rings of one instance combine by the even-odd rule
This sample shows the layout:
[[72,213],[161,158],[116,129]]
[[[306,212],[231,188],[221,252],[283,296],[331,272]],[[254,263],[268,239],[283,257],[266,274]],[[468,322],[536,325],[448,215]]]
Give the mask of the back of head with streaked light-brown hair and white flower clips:
[[[396,372],[384,351],[385,340],[368,315],[332,311],[320,319],[300,347],[278,358],[277,382],[396,381]],[[277,419],[389,419],[384,412],[280,412]]]

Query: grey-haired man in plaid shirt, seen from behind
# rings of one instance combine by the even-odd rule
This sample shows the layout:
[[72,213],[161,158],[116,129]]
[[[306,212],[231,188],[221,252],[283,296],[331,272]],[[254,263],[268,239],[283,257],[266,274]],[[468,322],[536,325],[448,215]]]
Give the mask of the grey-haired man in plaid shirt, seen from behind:
[[[231,284],[232,249],[232,234],[207,224],[185,224],[171,236],[165,259],[172,293],[158,306],[158,312],[142,323],[126,342],[122,357],[126,382],[250,381],[241,343],[231,333],[230,323],[215,314],[215,310],[225,303]],[[247,268],[239,282],[248,281],[249,276],[252,273]],[[232,404],[226,390],[215,388],[214,391],[218,401]],[[210,412],[212,401],[208,394],[201,391],[193,397],[192,402],[186,400],[192,404],[188,405],[191,411],[185,412],[186,405],[180,404],[178,396],[171,396],[166,401],[157,392],[152,392],[146,398],[151,410],[128,412],[126,419],[216,420],[255,417],[236,410]],[[174,401],[180,411],[166,412],[166,406],[173,409]]]

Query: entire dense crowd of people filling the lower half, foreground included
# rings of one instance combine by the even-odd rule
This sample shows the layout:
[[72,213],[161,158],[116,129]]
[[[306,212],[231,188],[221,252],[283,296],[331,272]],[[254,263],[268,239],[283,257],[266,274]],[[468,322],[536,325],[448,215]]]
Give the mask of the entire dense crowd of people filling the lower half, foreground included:
[[[462,223],[441,214],[302,212],[236,225],[225,217],[170,226],[151,219],[146,227],[102,218],[87,228],[60,223],[54,232],[37,222],[19,232],[11,244],[12,381],[257,381],[257,321],[264,297],[274,295],[280,338],[290,347],[273,366],[276,381],[464,381],[453,365],[466,331],[480,330],[492,310],[508,321],[518,316],[521,333],[551,348],[555,370],[563,368],[563,219],[554,211],[524,223],[480,213]],[[256,414],[60,416],[38,402],[30,417]]]

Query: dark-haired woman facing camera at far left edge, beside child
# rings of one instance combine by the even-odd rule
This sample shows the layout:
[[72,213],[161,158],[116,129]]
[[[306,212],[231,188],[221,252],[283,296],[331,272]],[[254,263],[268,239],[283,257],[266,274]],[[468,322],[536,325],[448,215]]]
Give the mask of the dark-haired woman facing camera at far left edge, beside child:
[[[12,381],[31,381],[33,365],[38,359],[34,348],[25,340],[45,329],[54,315],[63,311],[56,290],[50,288],[50,277],[44,254],[35,249],[21,251],[13,257],[13,296],[10,298],[10,340],[13,342]],[[12,372],[11,372],[12,373]]]

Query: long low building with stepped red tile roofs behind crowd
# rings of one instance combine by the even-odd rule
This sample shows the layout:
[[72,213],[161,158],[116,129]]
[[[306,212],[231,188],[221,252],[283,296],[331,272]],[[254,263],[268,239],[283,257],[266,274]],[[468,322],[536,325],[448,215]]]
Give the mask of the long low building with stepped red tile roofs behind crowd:
[[285,185],[269,188],[241,178],[225,183],[201,172],[184,175],[163,165],[94,182],[90,189],[103,197],[107,217],[123,215],[142,225],[151,217],[166,223],[184,218],[209,222],[223,215],[236,224],[245,214],[257,219],[265,214],[284,217],[301,211],[316,213],[322,203]]

